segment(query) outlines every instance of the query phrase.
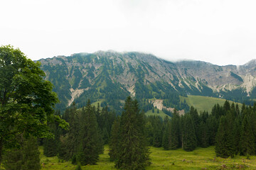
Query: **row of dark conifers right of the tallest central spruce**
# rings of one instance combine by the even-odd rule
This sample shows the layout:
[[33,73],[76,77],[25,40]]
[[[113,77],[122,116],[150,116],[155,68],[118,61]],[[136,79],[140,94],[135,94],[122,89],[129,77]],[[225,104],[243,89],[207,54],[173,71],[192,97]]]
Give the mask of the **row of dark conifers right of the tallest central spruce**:
[[183,148],[193,151],[196,147],[215,145],[217,157],[234,157],[256,154],[256,104],[238,105],[225,101],[216,104],[211,114],[198,113],[191,107],[189,113],[173,113],[171,120],[156,116],[147,118],[146,133],[149,145],[164,149]]

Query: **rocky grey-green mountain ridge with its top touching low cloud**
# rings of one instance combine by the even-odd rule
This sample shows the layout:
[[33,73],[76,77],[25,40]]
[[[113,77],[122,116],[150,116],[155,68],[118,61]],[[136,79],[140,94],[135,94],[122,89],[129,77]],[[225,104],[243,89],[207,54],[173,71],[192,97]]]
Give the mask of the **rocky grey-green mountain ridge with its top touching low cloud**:
[[41,59],[46,80],[53,83],[65,108],[73,101],[84,106],[87,99],[102,100],[116,111],[127,96],[141,100],[148,110],[150,99],[163,99],[166,107],[187,109],[179,96],[200,95],[249,101],[256,98],[256,60],[241,66],[218,66],[208,62],[169,62],[140,52],[98,51],[69,57]]

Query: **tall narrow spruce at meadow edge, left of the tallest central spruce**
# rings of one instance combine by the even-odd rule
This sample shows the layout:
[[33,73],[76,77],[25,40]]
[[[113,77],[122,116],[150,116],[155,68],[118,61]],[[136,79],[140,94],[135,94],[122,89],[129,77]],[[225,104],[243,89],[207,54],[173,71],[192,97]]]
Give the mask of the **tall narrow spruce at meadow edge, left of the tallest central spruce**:
[[97,127],[95,108],[92,108],[88,100],[85,108],[82,108],[82,127],[80,129],[80,145],[77,160],[81,165],[95,164],[102,153],[103,142]]

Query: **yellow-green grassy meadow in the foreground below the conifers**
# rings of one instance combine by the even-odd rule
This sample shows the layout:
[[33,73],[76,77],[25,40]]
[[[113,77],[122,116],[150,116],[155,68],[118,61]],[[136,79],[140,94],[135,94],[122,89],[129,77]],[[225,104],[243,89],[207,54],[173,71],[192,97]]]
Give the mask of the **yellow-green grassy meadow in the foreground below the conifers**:
[[[105,146],[104,154],[100,154],[99,162],[97,165],[82,166],[82,169],[115,169],[114,163],[109,161],[108,156],[109,148]],[[67,169],[75,170],[75,166],[70,162],[62,162],[57,157],[45,157],[41,151],[41,164],[44,163],[45,167],[42,169]],[[193,152],[185,152],[182,149],[165,151],[163,148],[150,148],[151,166],[146,167],[146,170],[151,169],[256,169],[256,157],[236,156],[233,159],[221,159],[215,157],[214,147],[197,148]]]

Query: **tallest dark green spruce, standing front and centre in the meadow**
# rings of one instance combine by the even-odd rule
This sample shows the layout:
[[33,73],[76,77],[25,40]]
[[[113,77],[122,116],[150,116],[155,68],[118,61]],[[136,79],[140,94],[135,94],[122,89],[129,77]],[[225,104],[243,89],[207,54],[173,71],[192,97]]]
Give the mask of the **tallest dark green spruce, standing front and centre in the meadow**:
[[149,164],[144,128],[144,114],[139,113],[138,102],[128,97],[120,121],[121,136],[115,161],[118,169],[144,169]]

